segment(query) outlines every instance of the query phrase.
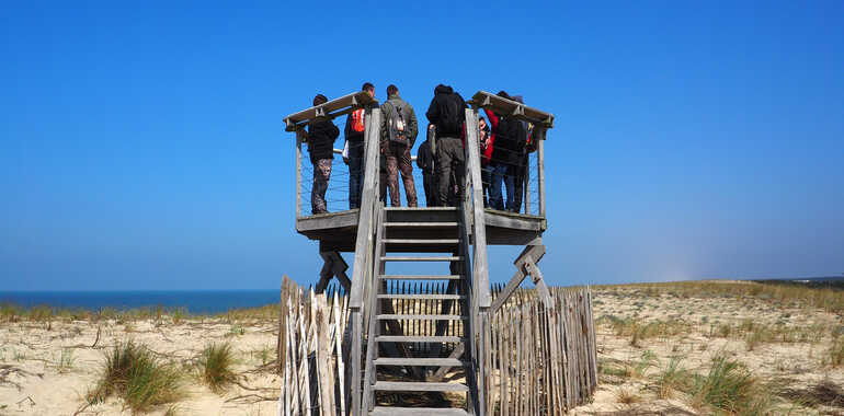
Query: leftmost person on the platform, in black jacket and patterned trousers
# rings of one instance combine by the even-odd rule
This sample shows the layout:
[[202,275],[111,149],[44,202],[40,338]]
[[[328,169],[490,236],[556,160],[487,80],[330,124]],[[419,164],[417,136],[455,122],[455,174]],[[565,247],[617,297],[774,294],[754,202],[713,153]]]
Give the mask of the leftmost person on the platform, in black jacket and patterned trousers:
[[[322,94],[313,97],[313,106],[328,103]],[[340,129],[329,118],[318,117],[308,122],[307,143],[310,163],[313,164],[313,186],[310,189],[310,206],[313,213],[326,213],[326,190],[331,177],[331,162],[334,160],[334,140]]]

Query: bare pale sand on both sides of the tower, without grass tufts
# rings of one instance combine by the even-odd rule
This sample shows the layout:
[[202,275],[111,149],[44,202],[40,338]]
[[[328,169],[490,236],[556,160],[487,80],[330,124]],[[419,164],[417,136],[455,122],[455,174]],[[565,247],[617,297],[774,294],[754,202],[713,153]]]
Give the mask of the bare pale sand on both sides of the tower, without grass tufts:
[[[672,357],[680,357],[683,368],[698,372],[705,372],[717,355],[740,360],[754,378],[771,385],[772,393],[807,390],[823,382],[844,385],[844,366],[829,362],[835,331],[844,331],[841,315],[762,298],[698,298],[636,287],[593,291],[601,385],[594,401],[573,409],[572,415],[709,414],[707,408],[694,407],[682,392],[658,398],[654,377]],[[624,319],[639,325],[662,322],[668,330],[631,345],[631,335],[612,324],[613,320]],[[738,330],[749,322],[779,327],[779,335],[751,346],[746,334]],[[725,325],[733,328],[727,336],[719,333]],[[59,319],[50,323],[3,322],[0,415],[73,415],[85,405],[85,393],[101,372],[105,351],[127,339],[146,345],[162,359],[182,363],[195,359],[210,342],[233,346],[242,386],[217,394],[186,371],[186,394],[174,404],[176,415],[275,415],[276,402],[272,398],[278,395],[281,380],[264,366],[275,358],[275,330],[271,319],[232,322],[194,317],[173,323],[170,316],[163,316],[99,323]],[[625,368],[638,370],[619,375],[616,370]],[[774,398],[775,414],[844,414],[844,396],[839,405],[814,407],[778,395]],[[159,406],[149,414],[163,415],[169,407]],[[111,397],[78,414],[129,415],[130,411],[119,398]]]

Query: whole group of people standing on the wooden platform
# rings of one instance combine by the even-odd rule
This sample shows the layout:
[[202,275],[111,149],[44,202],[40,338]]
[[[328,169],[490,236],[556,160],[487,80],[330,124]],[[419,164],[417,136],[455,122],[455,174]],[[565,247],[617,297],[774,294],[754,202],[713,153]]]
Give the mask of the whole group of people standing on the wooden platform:
[[[362,91],[375,97],[375,86],[366,82]],[[500,96],[522,102],[521,96]],[[327,103],[322,94],[313,97],[313,105]],[[420,145],[417,165],[422,170],[425,203],[429,207],[456,206],[457,197],[464,193],[466,166],[466,102],[450,86],[440,84],[425,117],[429,120],[426,139]],[[417,114],[399,95],[396,85],[387,86],[387,101],[380,106],[380,198],[389,195],[390,205],[401,206],[399,176],[404,186],[409,207],[419,205],[411,149],[419,135]],[[478,119],[479,147],[481,151],[481,175],[483,182],[483,205],[499,210],[518,212],[524,192],[527,153],[533,151],[531,130],[527,122],[495,114],[484,109],[490,123],[481,116]],[[349,208],[360,208],[363,193],[364,132],[367,113],[364,108],[346,116],[343,161],[349,165]],[[327,118],[308,123],[306,142],[313,164],[311,188],[311,211],[328,212],[326,190],[331,176],[334,141],[340,129]],[[502,185],[506,199],[502,194]]]

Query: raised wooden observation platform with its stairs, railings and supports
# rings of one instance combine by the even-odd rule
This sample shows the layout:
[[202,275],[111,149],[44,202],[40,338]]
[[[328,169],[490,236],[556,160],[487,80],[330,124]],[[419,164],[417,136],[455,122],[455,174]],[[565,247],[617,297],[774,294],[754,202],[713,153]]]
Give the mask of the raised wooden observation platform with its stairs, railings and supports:
[[[349,293],[347,365],[349,409],[353,415],[487,415],[491,386],[489,378],[490,319],[506,299],[531,276],[539,296],[552,308],[549,290],[537,266],[545,254],[544,142],[554,126],[554,116],[515,101],[480,91],[466,109],[465,194],[457,207],[388,208],[379,199],[379,151],[381,113],[377,101],[364,92],[349,94],[285,117],[287,131],[296,132],[296,230],[319,241],[324,266],[316,290],[324,290],[337,277]],[[365,108],[363,194],[360,209],[307,216],[303,213],[303,138],[307,123],[350,114]],[[526,194],[538,197],[528,213],[484,209],[478,145],[478,111],[491,109],[499,116],[533,124],[535,163],[527,172]],[[307,160],[307,159],[305,159]],[[332,178],[333,180],[333,178]],[[529,189],[531,184],[535,188]],[[537,204],[538,203],[538,204]],[[525,198],[529,207],[531,198]],[[515,273],[492,301],[487,245],[524,246],[515,259]],[[352,276],[340,256],[354,253]],[[441,274],[406,275],[390,273],[392,264],[442,263]],[[412,267],[412,266],[411,266]],[[406,266],[404,269],[408,269]],[[441,281],[444,292],[397,292],[396,282]],[[402,286],[403,287],[403,286]],[[436,301],[437,310],[404,308],[396,301]],[[408,327],[423,327],[409,335]],[[421,335],[420,335],[421,334]],[[454,374],[446,381],[445,374]],[[342,389],[342,388],[341,388]],[[381,395],[440,392],[463,395],[446,407],[412,407],[389,403]],[[402,401],[400,401],[402,402]]]

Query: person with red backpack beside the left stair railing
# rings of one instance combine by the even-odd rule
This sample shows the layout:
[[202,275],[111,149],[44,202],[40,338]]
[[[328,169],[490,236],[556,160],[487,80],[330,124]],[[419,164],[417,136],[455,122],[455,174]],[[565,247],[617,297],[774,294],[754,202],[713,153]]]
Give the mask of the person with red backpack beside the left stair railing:
[[[365,82],[361,91],[375,97],[375,85]],[[364,130],[366,111],[357,108],[345,118],[345,149],[343,162],[349,165],[349,209],[361,208],[361,194],[363,193],[363,164],[364,164]]]

